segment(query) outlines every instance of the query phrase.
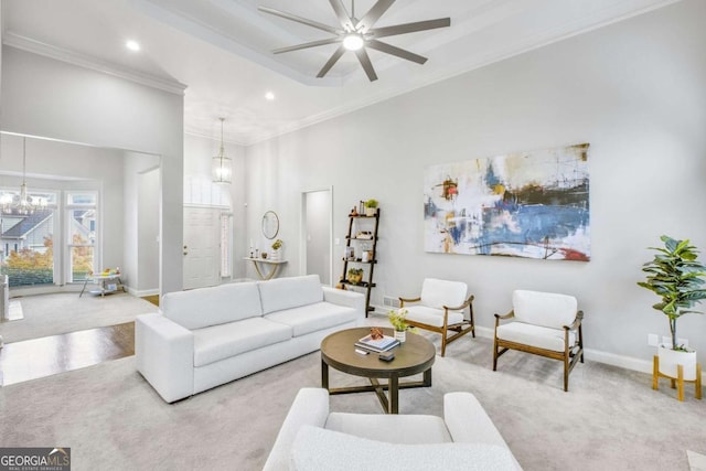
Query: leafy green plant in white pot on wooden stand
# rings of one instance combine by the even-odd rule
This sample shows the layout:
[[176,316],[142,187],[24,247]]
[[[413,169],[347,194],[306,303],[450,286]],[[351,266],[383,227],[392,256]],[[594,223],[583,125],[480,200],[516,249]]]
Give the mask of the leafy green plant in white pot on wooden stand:
[[654,357],[652,388],[657,388],[659,377],[678,379],[678,399],[684,400],[684,382],[696,383],[696,397],[700,399],[700,365],[696,363],[696,351],[680,345],[676,335],[676,321],[684,314],[703,313],[692,310],[706,299],[704,282],[706,266],[697,259],[698,250],[689,240],[677,240],[663,235],[660,239],[664,247],[650,247],[656,250],[654,258],[642,266],[648,274],[644,281],[638,285],[649,289],[661,298],[653,306],[667,317],[670,322],[671,344],[660,344]]

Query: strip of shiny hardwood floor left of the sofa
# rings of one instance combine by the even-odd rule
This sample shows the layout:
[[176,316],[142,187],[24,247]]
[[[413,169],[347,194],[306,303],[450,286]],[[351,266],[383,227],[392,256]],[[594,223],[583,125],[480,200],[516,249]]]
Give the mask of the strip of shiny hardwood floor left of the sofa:
[[0,386],[135,354],[135,322],[8,343],[0,349]]

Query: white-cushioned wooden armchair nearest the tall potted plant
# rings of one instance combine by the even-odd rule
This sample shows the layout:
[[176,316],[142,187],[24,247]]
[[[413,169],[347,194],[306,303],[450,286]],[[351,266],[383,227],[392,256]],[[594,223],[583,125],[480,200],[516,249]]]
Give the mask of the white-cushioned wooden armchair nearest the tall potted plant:
[[[515,290],[513,310],[495,314],[493,371],[498,357],[507,350],[533,353],[564,362],[564,390],[569,388],[569,373],[584,363],[584,312],[576,298],[553,292]],[[512,322],[501,324],[501,320]]]

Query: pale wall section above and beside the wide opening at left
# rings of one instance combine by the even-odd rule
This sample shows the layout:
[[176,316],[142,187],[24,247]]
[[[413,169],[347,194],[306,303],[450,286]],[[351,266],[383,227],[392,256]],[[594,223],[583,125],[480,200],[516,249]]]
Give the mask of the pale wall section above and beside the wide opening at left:
[[4,131],[161,156],[161,290],[181,290],[183,96],[8,46],[1,92]]

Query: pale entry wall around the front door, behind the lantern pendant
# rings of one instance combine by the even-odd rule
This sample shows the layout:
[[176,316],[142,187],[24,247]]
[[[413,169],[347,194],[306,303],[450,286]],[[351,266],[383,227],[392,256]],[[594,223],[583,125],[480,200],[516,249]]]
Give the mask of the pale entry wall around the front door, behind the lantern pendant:
[[[215,120],[216,118],[214,118]],[[227,122],[227,121],[226,121]],[[213,140],[192,135],[184,136],[184,179],[202,179],[211,181],[211,158],[218,154],[220,140]],[[223,185],[231,200],[233,212],[233,278],[244,278],[248,242],[245,231],[245,148],[232,142],[224,143],[225,154],[233,162],[233,183]]]

